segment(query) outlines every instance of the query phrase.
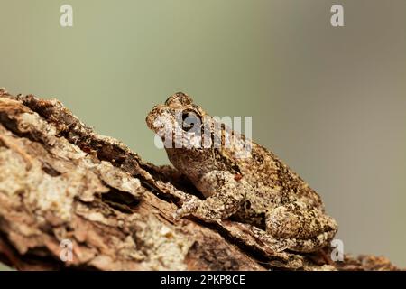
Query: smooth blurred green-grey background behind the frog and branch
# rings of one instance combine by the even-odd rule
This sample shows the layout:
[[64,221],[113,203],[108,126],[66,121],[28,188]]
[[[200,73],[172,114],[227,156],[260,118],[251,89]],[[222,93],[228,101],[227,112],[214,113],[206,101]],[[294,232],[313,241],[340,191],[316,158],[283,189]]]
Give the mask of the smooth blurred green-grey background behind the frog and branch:
[[[73,27],[60,26],[60,6]],[[330,25],[344,6],[345,27]],[[0,0],[0,87],[59,98],[168,163],[144,118],[178,90],[309,182],[346,253],[406,267],[406,1]]]

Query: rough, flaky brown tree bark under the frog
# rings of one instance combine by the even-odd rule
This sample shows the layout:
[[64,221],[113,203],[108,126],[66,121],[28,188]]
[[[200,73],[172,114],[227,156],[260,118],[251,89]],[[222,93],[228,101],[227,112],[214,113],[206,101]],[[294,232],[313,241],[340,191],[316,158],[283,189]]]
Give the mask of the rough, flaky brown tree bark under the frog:
[[[0,89],[0,260],[19,270],[394,270],[329,249],[275,254],[232,221],[172,219],[197,192],[171,167],[97,135],[58,100]],[[72,259],[65,242],[72,245]],[[62,246],[61,246],[62,245]],[[62,258],[61,258],[62,256]],[[328,264],[327,264],[328,263]]]

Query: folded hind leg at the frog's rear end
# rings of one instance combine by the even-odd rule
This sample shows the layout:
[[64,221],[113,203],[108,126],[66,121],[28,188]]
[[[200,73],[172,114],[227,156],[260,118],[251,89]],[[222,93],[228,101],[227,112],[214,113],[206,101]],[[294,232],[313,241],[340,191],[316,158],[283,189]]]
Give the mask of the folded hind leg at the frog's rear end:
[[292,251],[313,252],[328,246],[337,222],[322,210],[295,201],[267,212],[266,232],[272,238],[290,239]]

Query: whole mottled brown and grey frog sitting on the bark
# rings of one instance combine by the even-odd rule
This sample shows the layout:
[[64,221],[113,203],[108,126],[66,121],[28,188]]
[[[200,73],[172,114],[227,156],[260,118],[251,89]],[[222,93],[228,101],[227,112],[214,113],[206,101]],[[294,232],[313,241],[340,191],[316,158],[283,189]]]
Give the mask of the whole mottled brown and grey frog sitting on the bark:
[[[211,141],[221,140],[221,145],[216,146],[213,141],[206,148],[184,147],[182,144],[209,139],[199,139],[196,132],[203,125],[185,125],[176,115],[179,111],[182,119],[191,117],[193,122],[195,117],[202,123],[209,120],[205,126],[211,129],[208,137]],[[229,127],[223,126],[218,133],[213,129],[217,121],[193,104],[186,94],[177,93],[165,104],[153,107],[146,121],[163,141],[168,141],[165,134],[172,135],[172,147],[165,145],[171,163],[206,197],[185,201],[176,213],[177,218],[193,215],[218,221],[232,217],[252,225],[257,238],[276,244],[276,250],[316,251],[327,246],[336,234],[336,221],[325,214],[317,192],[299,175],[262,145],[245,142],[244,135],[236,134]],[[236,137],[226,145],[225,139],[230,139],[230,135]],[[252,145],[251,152],[241,154],[246,144]]]

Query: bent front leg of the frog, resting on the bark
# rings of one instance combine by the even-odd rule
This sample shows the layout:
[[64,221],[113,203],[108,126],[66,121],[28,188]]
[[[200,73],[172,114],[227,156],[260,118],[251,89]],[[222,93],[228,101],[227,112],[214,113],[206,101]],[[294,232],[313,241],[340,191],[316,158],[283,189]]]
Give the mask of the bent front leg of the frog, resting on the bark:
[[205,221],[226,219],[240,209],[249,185],[234,173],[211,171],[198,182],[198,189],[208,196],[205,200],[196,197],[183,203],[176,211],[175,219],[193,215]]

